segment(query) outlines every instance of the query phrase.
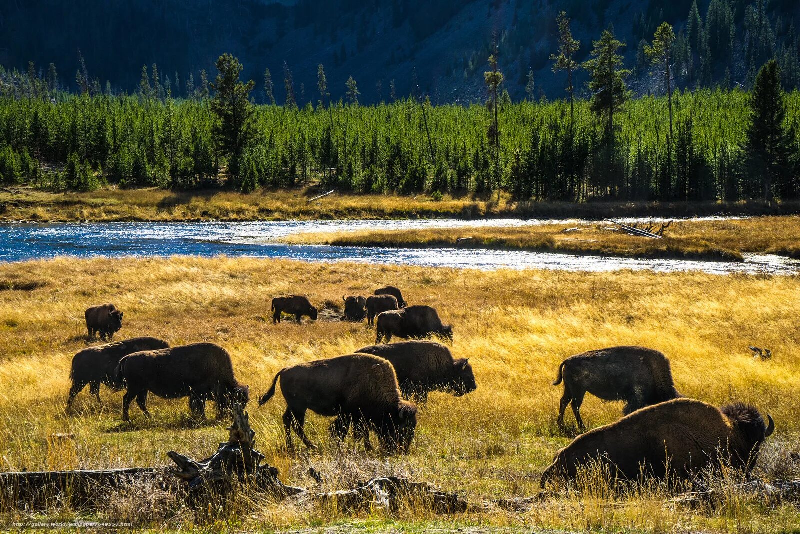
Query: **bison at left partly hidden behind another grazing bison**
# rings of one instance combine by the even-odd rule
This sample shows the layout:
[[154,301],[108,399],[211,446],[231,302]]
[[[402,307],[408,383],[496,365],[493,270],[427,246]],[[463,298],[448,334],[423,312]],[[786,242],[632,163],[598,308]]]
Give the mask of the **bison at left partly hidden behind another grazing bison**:
[[114,389],[122,388],[122,383],[117,381],[114,369],[119,361],[128,354],[138,353],[142,350],[166,349],[170,345],[155,337],[134,337],[125,341],[117,341],[107,345],[98,345],[83,349],[72,358],[72,373],[70,380],[70,398],[66,407],[70,408],[78,393],[89,385],[89,393],[98,398],[100,402],[100,385],[105,384]]

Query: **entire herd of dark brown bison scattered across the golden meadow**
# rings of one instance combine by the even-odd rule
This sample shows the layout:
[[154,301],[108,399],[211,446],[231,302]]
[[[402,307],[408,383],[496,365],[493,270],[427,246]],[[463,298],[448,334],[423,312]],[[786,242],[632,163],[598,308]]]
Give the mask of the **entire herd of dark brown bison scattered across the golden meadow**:
[[[370,431],[390,453],[408,452],[417,426],[418,409],[412,399],[426,402],[434,391],[461,397],[478,388],[470,365],[454,358],[446,345],[422,337],[453,339],[436,309],[407,305],[399,289],[378,289],[370,297],[344,296],[342,321],[375,324],[376,343],[353,354],[310,361],[281,369],[258,401],[275,395],[278,383],[286,401],[283,426],[286,446],[294,449],[292,433],[307,448],[316,445],[306,436],[306,412],[334,417],[330,434],[344,440],[352,429],[355,440],[371,450]],[[273,322],[283,313],[298,323],[316,321],[318,309],[299,295],[275,297]],[[122,328],[123,313],[114,305],[86,310],[90,338],[99,333],[110,339]],[[393,337],[404,340],[389,343]],[[385,343],[382,344],[382,341]],[[145,416],[147,395],[175,399],[189,397],[194,417],[205,416],[206,401],[217,404],[222,417],[234,404],[246,405],[250,389],[238,382],[230,354],[213,343],[170,347],[154,337],[137,337],[84,349],[72,361],[68,407],[86,387],[100,401],[100,385],[126,389],[122,418],[130,420],[131,401]],[[726,464],[750,472],[761,444],[774,431],[770,416],[762,418],[748,404],[715,408],[683,397],[675,389],[670,361],[658,351],[642,347],[614,347],[577,354],[558,367],[554,385],[563,384],[558,426],[564,428],[571,404],[578,428],[586,425],[581,404],[586,393],[604,401],[624,401],[622,419],[578,436],[555,456],[542,475],[542,487],[551,480],[575,480],[588,467],[601,468],[615,480],[642,476],[666,479],[691,477]]]

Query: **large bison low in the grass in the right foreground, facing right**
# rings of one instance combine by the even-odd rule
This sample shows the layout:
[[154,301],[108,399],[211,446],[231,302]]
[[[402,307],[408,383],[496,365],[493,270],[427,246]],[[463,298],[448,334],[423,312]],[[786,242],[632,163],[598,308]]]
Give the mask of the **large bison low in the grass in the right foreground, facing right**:
[[758,410],[730,404],[721,410],[692,399],[642,408],[616,423],[594,428],[562,448],[542,475],[548,480],[574,480],[578,470],[592,466],[608,470],[618,480],[640,476],[690,480],[706,468],[721,464],[750,472],[758,449],[774,431]]

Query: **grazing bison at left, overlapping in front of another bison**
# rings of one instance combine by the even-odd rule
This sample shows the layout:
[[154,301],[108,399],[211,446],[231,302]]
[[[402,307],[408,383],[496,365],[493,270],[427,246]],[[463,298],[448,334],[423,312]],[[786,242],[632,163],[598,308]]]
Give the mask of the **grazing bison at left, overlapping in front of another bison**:
[[194,343],[172,349],[150,350],[122,358],[116,370],[117,380],[125,381],[128,390],[122,398],[122,419],[130,420],[130,401],[147,411],[147,393],[165,399],[189,397],[192,416],[206,416],[206,401],[217,403],[222,418],[231,404],[246,405],[250,389],[234,377],[230,354],[214,343]]

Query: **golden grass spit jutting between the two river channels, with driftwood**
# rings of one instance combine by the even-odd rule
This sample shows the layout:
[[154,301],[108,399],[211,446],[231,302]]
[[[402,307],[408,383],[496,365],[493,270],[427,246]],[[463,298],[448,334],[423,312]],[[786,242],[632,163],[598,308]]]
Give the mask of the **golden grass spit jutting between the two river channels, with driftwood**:
[[[753,217],[726,221],[675,221],[663,240],[633,237],[611,223],[559,224],[524,228],[458,228],[300,233],[282,238],[289,243],[402,248],[462,246],[620,257],[673,257],[742,261],[742,253],[774,253],[800,257],[800,217]],[[577,231],[564,233],[566,229]]]

